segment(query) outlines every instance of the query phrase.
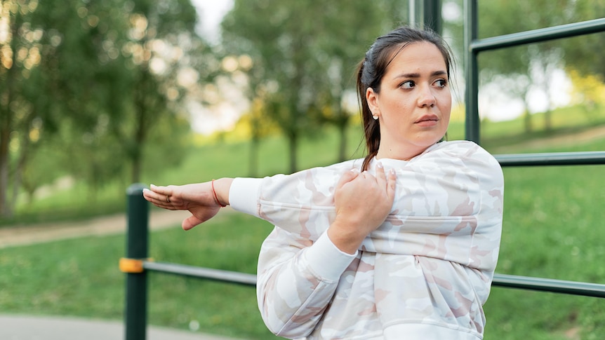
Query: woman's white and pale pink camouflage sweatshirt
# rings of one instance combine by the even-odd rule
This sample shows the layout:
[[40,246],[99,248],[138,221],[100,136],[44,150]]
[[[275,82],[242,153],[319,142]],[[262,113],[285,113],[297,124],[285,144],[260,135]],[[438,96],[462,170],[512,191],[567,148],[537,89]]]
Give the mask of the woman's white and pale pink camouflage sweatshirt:
[[502,229],[500,165],[466,141],[380,162],[397,173],[392,211],[352,255],[326,230],[335,184],[361,159],[234,179],[232,208],[276,226],[258,259],[262,319],[290,339],[482,339]]

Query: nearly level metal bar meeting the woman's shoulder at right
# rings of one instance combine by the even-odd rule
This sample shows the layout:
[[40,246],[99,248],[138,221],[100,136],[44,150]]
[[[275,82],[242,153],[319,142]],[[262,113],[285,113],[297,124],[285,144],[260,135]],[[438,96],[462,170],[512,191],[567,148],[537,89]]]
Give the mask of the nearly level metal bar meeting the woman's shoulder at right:
[[605,151],[550,152],[545,154],[494,155],[502,166],[599,165],[605,164]]

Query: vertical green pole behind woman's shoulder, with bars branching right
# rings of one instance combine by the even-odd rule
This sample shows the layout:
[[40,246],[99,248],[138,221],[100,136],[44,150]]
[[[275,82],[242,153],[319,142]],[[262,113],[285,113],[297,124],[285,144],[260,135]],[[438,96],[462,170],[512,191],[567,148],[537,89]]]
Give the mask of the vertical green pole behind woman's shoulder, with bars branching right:
[[471,44],[477,39],[477,0],[464,1],[464,45],[465,45],[465,138],[479,144],[479,67],[477,52]]

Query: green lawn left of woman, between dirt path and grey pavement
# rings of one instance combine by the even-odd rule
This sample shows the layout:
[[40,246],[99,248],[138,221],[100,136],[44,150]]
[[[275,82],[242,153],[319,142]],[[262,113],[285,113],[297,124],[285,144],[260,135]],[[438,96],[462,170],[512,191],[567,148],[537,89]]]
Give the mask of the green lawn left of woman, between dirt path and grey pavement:
[[[154,231],[157,261],[255,273],[272,226],[224,212],[191,231]],[[0,250],[2,313],[124,319],[124,236],[87,237]],[[149,273],[148,322],[246,339],[276,338],[260,319],[254,287]],[[277,338],[276,338],[277,339]]]

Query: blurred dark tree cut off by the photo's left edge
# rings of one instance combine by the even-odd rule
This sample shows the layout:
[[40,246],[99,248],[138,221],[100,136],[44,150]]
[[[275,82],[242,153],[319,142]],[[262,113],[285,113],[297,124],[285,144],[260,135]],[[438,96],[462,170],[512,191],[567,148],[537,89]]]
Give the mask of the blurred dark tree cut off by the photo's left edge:
[[[49,118],[52,76],[40,72],[44,31],[29,22],[38,1],[0,1],[0,215],[11,216],[22,170]],[[12,166],[11,166],[12,165]],[[9,182],[13,178],[13,195]]]

